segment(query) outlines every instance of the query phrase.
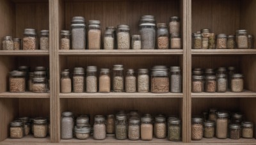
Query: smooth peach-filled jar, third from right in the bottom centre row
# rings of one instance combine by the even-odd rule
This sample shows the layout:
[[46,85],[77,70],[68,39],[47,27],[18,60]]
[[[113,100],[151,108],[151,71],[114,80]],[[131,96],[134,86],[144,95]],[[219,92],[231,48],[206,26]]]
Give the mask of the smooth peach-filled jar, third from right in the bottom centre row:
[[141,118],[140,130],[142,141],[151,141],[153,139],[153,125],[151,117],[144,116]]

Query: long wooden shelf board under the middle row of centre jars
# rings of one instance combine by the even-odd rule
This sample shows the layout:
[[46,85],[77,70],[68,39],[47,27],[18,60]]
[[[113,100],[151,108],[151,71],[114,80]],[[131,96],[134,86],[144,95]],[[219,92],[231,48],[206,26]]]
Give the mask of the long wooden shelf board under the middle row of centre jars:
[[182,98],[182,93],[60,93],[60,98]]

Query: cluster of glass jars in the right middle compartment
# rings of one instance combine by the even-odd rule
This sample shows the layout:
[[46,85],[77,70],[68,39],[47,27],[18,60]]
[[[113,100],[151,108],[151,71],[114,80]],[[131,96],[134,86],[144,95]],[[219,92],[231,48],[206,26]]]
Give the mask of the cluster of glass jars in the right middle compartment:
[[236,73],[236,67],[218,69],[193,69],[192,92],[243,92],[244,76]]

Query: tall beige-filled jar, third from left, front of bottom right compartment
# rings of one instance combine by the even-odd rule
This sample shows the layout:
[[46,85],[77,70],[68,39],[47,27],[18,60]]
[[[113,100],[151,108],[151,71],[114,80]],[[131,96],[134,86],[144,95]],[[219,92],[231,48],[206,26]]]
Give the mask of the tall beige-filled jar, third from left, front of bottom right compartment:
[[226,139],[228,135],[228,113],[218,112],[216,120],[216,137],[218,139]]

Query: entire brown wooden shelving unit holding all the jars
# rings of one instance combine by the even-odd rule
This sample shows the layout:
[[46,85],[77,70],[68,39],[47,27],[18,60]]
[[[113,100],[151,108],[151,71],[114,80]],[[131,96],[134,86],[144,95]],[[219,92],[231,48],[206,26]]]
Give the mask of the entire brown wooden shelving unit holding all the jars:
[[[191,34],[209,28],[216,34],[234,34],[246,29],[256,36],[254,0],[2,0],[0,1],[0,40],[3,36],[22,38],[25,28],[49,29],[50,50],[0,51],[0,144],[255,144],[256,139],[202,139],[191,141],[191,116],[211,107],[240,111],[256,126],[256,50],[191,50]],[[100,20],[107,26],[127,24],[138,34],[141,15],[154,15],[157,22],[168,23],[171,16],[181,20],[182,50],[59,50],[60,31],[70,29],[74,16]],[[256,44],[254,43],[256,46]],[[0,49],[2,42],[0,41]],[[182,68],[182,93],[60,93],[60,72],[74,67],[150,69],[154,65]],[[49,93],[9,93],[8,72],[19,66],[50,68]],[[235,66],[245,76],[241,93],[191,93],[193,67]],[[182,141],[118,141],[108,135],[103,141],[92,138],[61,140],[60,118],[63,111],[75,114],[108,114],[138,109],[141,113],[173,114],[182,118]],[[51,114],[51,137],[9,139],[9,123],[18,116]],[[91,121],[93,123],[93,120]],[[255,127],[256,132],[256,127]]]

